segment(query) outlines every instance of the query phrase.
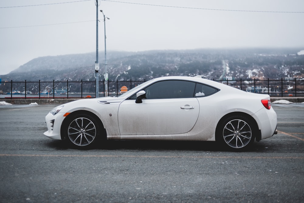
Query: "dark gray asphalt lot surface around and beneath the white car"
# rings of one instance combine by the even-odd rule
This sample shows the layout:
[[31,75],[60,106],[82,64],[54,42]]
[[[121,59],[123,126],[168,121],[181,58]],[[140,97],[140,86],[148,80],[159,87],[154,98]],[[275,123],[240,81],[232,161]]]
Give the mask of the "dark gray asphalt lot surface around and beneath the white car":
[[304,202],[304,104],[272,104],[278,135],[247,152],[173,141],[69,149],[43,135],[55,106],[0,105],[0,202]]

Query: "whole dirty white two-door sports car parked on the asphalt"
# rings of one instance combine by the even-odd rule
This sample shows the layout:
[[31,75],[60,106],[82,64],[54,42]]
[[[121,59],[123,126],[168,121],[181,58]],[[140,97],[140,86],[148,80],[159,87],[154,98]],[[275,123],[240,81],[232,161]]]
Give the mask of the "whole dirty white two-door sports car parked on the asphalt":
[[86,149],[106,140],[217,141],[241,151],[276,134],[270,96],[201,76],[152,79],[118,97],[76,100],[46,116],[49,138]]

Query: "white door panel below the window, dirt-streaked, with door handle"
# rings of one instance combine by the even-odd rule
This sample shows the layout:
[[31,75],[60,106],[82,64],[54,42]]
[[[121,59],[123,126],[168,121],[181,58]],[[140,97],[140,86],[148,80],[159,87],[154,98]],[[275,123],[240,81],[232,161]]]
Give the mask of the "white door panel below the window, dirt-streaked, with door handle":
[[198,116],[196,98],[125,100],[119,106],[118,123],[120,135],[183,134],[193,128]]

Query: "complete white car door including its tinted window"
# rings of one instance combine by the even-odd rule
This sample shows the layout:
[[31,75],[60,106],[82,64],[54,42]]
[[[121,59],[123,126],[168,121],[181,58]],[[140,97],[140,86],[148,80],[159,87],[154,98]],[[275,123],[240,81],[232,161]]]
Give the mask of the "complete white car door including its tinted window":
[[131,97],[118,110],[120,135],[171,135],[190,131],[199,116],[195,82],[166,80],[146,87],[146,99]]

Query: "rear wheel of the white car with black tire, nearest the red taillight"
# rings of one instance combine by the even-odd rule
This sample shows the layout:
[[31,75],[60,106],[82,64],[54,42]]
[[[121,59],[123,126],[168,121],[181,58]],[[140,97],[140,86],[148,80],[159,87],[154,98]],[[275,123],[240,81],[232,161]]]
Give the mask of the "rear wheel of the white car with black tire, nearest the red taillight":
[[231,116],[218,124],[216,141],[225,149],[244,151],[254,142],[255,125],[244,116]]

